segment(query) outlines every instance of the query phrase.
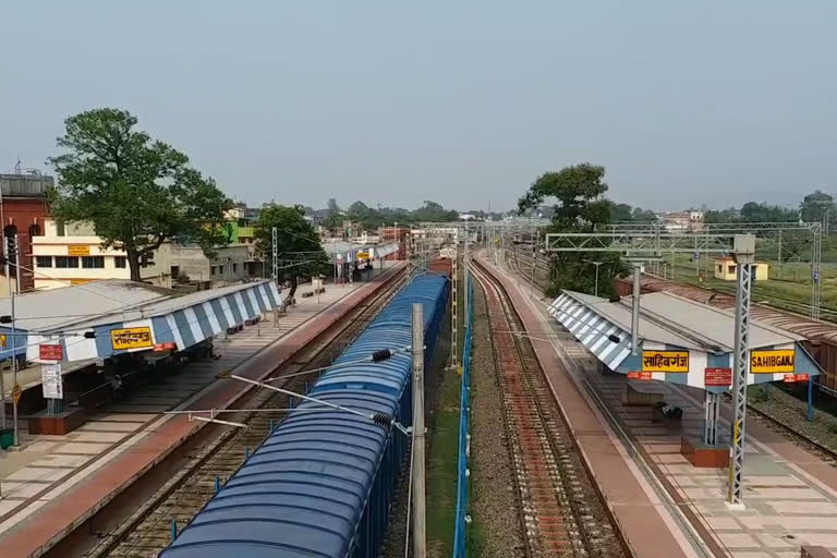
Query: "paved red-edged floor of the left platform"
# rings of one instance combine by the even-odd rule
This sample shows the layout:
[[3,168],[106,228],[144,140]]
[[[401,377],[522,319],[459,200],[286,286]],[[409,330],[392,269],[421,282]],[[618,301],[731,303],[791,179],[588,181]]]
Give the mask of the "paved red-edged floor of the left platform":
[[404,267],[388,265],[371,280],[326,284],[279,318],[216,339],[217,360],[190,363],[163,384],[147,385],[64,436],[29,435],[0,450],[0,556],[39,555],[126,488],[205,423],[167,410],[222,409],[248,386],[218,380],[220,372],[262,378],[350,313]]

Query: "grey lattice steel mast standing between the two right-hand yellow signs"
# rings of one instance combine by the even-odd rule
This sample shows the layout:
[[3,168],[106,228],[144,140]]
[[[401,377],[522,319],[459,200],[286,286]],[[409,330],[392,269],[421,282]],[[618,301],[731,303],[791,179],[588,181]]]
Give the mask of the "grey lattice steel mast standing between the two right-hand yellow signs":
[[727,505],[732,509],[743,509],[741,475],[744,465],[744,425],[747,416],[747,371],[750,356],[750,292],[752,286],[755,240],[748,239],[751,245],[736,238],[736,259],[738,288],[736,293],[736,338],[733,344],[732,398],[733,418],[730,435],[729,490]]

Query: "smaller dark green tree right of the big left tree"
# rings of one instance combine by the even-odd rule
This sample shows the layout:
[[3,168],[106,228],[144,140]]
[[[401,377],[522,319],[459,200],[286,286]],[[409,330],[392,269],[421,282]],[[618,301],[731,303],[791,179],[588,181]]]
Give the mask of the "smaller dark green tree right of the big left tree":
[[272,266],[272,228],[277,228],[279,274],[281,277],[313,276],[331,269],[319,235],[305,220],[303,206],[265,204],[253,235],[265,265]]

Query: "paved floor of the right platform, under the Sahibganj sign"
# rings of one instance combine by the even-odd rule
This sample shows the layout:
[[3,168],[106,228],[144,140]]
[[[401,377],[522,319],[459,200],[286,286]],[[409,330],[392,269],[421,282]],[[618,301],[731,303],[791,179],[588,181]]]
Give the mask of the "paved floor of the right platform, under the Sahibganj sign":
[[[627,407],[622,395],[627,379],[621,375],[603,375],[586,349],[577,343],[561,326],[546,314],[546,301],[524,281],[505,270],[492,269],[513,291],[515,306],[534,337],[533,345],[547,367],[554,390],[559,393],[565,413],[574,421],[577,440],[585,453],[591,470],[601,483],[603,494],[617,523],[636,556],[731,556],[735,558],[798,558],[802,545],[825,546],[837,550],[837,469],[765,424],[748,420],[744,457],[744,510],[730,510],[725,504],[727,469],[694,468],[680,453],[682,429],[700,430],[703,424],[701,390],[665,383],[643,383],[654,386],[665,400],[683,409],[681,426],[672,427],[652,422],[651,408]],[[537,331],[538,333],[534,333]],[[554,333],[544,339],[544,332]],[[551,354],[550,354],[551,353]],[[553,355],[557,355],[556,360]],[[561,366],[562,364],[562,366]],[[567,374],[558,368],[570,368]],[[561,377],[563,376],[563,377]],[[568,381],[568,377],[572,377]],[[584,404],[574,398],[585,390],[595,391],[604,407],[617,418],[633,448],[626,447],[615,426],[606,421],[593,426],[586,414],[598,415],[601,408],[590,397]],[[721,430],[729,432],[730,410],[721,410]],[[599,432],[601,430],[601,432]],[[603,436],[596,439],[591,432]],[[608,449],[605,438],[610,440]],[[636,450],[653,475],[643,478],[642,468],[632,457]],[[621,476],[619,454],[623,466],[644,494],[634,494],[636,502],[624,501],[624,490],[612,485]],[[647,476],[647,475],[646,475]],[[628,505],[628,506],[626,506]],[[648,512],[642,522],[632,521],[630,512]],[[651,513],[654,509],[656,513]],[[662,521],[658,521],[662,519]],[[670,539],[674,548],[654,548]]]

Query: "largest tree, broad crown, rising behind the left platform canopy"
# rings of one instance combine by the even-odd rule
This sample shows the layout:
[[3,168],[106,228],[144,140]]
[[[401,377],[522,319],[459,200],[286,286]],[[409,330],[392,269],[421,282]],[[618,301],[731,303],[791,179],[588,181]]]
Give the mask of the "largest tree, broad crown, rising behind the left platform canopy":
[[184,154],[153,141],[136,123],[130,112],[110,108],[70,117],[58,138],[66,153],[49,159],[59,177],[52,215],[93,222],[105,247],[126,252],[134,281],[141,260],[171,240],[197,243],[211,256],[227,241],[225,211],[233,205]]

